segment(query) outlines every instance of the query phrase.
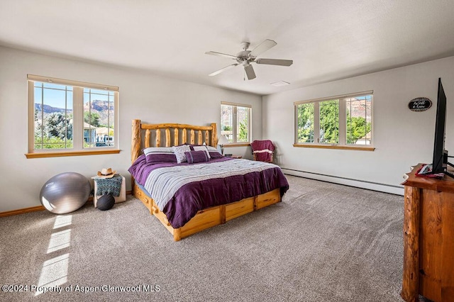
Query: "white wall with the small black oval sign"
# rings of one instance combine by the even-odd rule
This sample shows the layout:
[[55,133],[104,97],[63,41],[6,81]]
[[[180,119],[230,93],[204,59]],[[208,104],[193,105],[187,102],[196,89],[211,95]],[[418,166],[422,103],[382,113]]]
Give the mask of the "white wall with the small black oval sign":
[[[445,148],[454,155],[454,57],[265,96],[263,138],[276,143],[284,172],[403,194],[400,184],[410,166],[432,162],[438,77],[448,99]],[[374,91],[374,152],[292,146],[294,101],[367,90]],[[419,96],[433,106],[410,111],[409,101]]]

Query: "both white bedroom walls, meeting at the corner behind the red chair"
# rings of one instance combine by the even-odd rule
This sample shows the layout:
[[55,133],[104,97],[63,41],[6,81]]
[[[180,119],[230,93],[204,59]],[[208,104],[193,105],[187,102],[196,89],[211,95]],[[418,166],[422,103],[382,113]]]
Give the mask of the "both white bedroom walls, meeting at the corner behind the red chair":
[[[361,77],[254,96],[177,81],[150,73],[0,47],[0,212],[40,205],[41,186],[61,172],[87,178],[112,167],[131,182],[131,120],[147,123],[220,122],[220,102],[253,106],[253,139],[271,139],[284,172],[402,194],[402,175],[418,162],[431,162],[437,81],[448,97],[446,149],[454,155],[454,57]],[[26,159],[27,74],[120,87],[118,155]],[[374,152],[293,147],[294,101],[374,90]],[[409,111],[411,99],[426,96],[428,111]],[[262,100],[263,99],[263,104]],[[225,152],[250,157],[249,147]],[[454,160],[451,160],[454,162]],[[357,180],[357,181],[355,181]],[[363,182],[366,181],[366,182]]]

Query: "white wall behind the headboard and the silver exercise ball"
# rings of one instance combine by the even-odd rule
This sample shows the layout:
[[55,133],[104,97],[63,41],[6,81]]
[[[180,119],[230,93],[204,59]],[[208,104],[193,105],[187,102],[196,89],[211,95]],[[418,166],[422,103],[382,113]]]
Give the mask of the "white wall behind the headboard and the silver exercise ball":
[[[133,53],[131,53],[133,55]],[[0,212],[39,206],[40,189],[50,177],[78,172],[89,178],[112,167],[127,179],[131,164],[131,121],[208,125],[221,121],[220,103],[253,106],[253,139],[262,137],[262,98],[153,74],[65,60],[60,57],[0,47]],[[119,86],[120,140],[118,155],[26,159],[27,74]],[[248,155],[247,147],[228,152]]]

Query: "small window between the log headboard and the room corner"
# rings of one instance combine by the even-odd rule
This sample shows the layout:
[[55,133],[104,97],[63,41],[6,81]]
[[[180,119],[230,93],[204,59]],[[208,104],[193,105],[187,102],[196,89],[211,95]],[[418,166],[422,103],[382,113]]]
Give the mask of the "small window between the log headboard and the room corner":
[[232,143],[250,143],[250,105],[221,102],[221,135]]

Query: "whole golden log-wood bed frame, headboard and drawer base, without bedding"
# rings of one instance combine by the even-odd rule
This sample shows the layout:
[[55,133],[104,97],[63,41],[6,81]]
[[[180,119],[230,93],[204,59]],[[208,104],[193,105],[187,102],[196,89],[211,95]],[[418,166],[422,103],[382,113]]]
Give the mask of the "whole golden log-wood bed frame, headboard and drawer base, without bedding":
[[[164,135],[162,135],[161,130],[164,131]],[[165,138],[164,144],[161,144],[162,136]],[[209,126],[197,126],[175,123],[143,124],[140,123],[140,120],[133,120],[131,160],[134,162],[140,156],[143,148],[171,147],[185,142],[197,145],[205,143],[216,147],[218,142],[216,123],[211,123]],[[175,241],[281,201],[280,189],[278,188],[265,194],[245,198],[233,203],[205,208],[197,212],[196,216],[181,228],[175,229],[172,228],[165,214],[157,208],[153,198],[150,198],[145,191],[140,189],[135,184],[134,179],[132,179],[132,187],[133,195],[143,202],[151,215],[160,220],[162,225],[173,235]]]

